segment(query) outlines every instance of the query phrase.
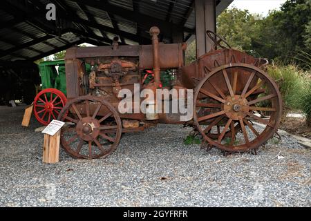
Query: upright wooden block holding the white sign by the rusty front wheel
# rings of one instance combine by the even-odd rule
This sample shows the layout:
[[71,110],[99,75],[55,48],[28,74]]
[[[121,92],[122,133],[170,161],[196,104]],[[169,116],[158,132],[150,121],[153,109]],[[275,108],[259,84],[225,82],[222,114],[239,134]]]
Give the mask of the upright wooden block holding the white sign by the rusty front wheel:
[[44,163],[55,164],[59,162],[59,142],[60,130],[54,136],[44,135],[44,153],[42,158]]

